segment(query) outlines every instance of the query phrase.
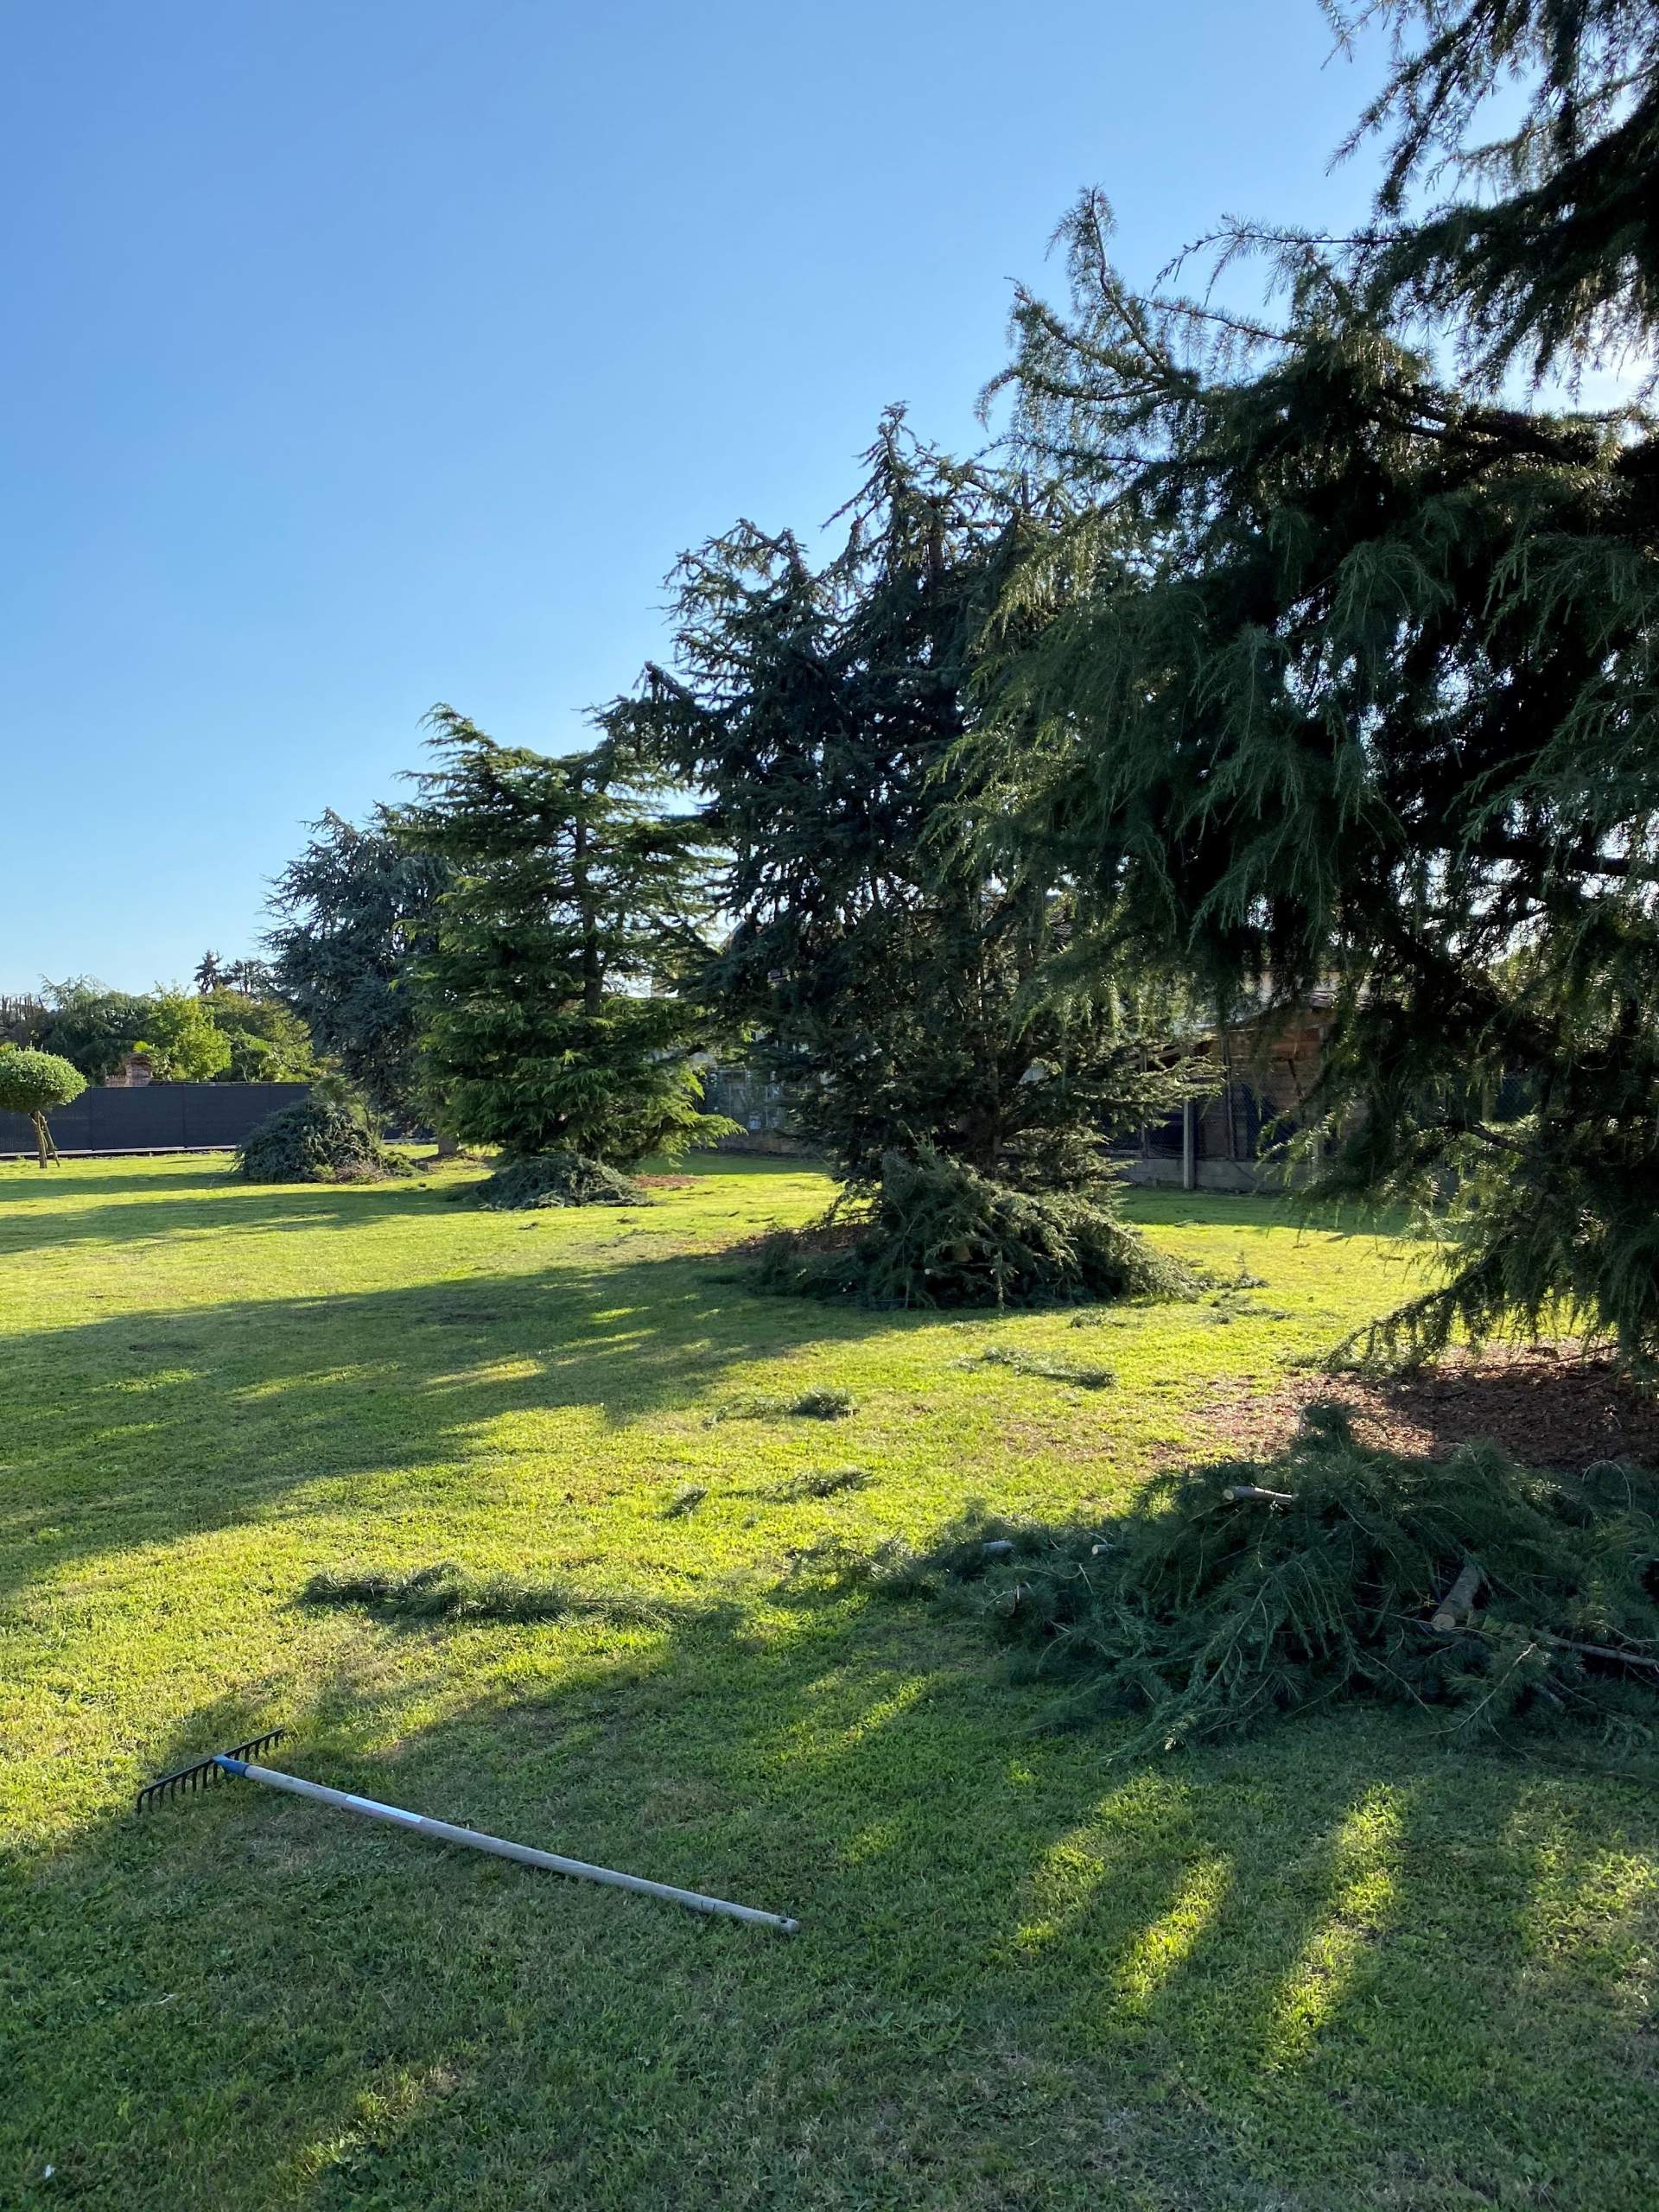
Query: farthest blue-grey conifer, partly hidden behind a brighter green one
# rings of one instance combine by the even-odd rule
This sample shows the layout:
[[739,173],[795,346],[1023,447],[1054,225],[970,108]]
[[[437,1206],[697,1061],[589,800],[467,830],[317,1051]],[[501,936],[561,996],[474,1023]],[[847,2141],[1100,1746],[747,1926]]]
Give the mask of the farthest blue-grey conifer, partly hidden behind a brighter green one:
[[279,995],[374,1110],[403,1124],[425,1119],[411,975],[442,885],[442,863],[409,852],[376,807],[363,830],[338,814],[312,823],[270,900]]

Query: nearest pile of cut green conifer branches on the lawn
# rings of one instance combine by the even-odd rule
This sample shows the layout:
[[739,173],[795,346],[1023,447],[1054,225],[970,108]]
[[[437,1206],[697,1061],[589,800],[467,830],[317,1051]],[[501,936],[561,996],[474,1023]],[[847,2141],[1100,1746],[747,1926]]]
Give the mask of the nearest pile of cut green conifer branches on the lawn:
[[[1121,1759],[1356,1694],[1438,1708],[1462,1736],[1588,1723],[1644,1743],[1659,1723],[1657,1475],[1528,1473],[1493,1444],[1400,1458],[1332,1405],[1267,1467],[1166,1475],[1106,1528],[987,1524],[869,1571],[1033,1652],[1066,1686],[1055,1723],[1139,1717]],[[1436,1628],[1453,1593],[1458,1624]]]

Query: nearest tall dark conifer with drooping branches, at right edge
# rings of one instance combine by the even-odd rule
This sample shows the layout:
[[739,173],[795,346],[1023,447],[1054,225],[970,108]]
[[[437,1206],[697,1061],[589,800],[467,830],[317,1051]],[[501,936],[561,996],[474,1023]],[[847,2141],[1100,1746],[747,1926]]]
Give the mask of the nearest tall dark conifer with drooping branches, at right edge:
[[[1075,520],[1004,595],[991,849],[1077,885],[1075,964],[1175,947],[1223,1006],[1334,989],[1307,1117],[1325,1188],[1444,1237],[1442,1283],[1380,1340],[1579,1327],[1641,1367],[1659,436],[1637,409],[1504,405],[1436,361],[1453,323],[1493,374],[1526,347],[1571,369],[1610,330],[1650,352],[1646,139],[1617,119],[1655,100],[1652,11],[1385,13],[1429,44],[1374,115],[1402,133],[1380,228],[1274,237],[1283,312],[1137,294],[1099,199],[1066,230],[1071,303],[1020,301],[1015,434]],[[1455,175],[1511,60],[1544,71],[1520,228],[1473,204],[1462,230],[1444,208],[1413,226],[1405,184],[1438,157]],[[1588,144],[1628,208],[1590,261],[1577,219],[1522,206]]]

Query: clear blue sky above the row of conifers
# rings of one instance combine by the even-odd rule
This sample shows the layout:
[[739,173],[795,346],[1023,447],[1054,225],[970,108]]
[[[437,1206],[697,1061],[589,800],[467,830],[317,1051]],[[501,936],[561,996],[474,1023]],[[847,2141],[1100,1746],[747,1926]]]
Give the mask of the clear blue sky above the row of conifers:
[[[257,949],[449,699],[564,750],[675,553],[971,445],[1099,184],[1343,221],[1314,0],[0,0],[0,989]],[[1057,272],[1053,272],[1057,281]]]

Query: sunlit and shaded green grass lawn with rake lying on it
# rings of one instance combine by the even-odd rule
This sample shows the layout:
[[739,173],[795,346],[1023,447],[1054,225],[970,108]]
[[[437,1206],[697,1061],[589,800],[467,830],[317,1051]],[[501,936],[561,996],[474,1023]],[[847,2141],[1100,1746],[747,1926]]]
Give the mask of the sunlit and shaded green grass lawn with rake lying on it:
[[[1409,1252],[1137,1194],[1259,1310],[750,1296],[726,1248],[823,1197],[737,1161],[531,1217],[0,1166],[0,2203],[1652,2212],[1652,1772],[1385,1712],[1108,1765],[973,1624],[796,1564],[973,1500],[1110,1511]],[[810,1387],[856,1411],[752,1407]],[[299,1601],[436,1559],[626,1604]],[[133,1816],[274,1723],[321,1781],[803,1933],[248,1785]]]

